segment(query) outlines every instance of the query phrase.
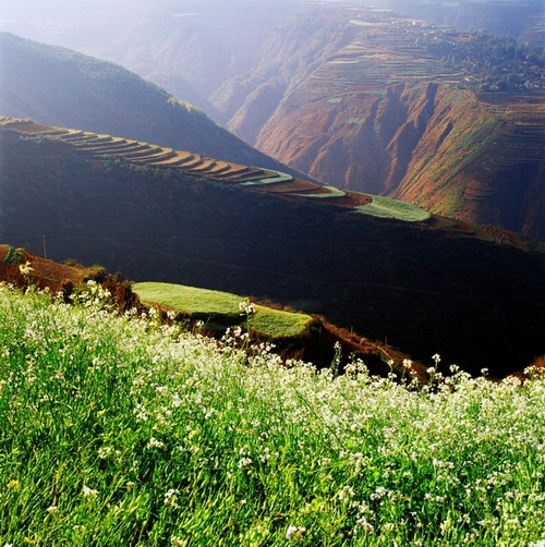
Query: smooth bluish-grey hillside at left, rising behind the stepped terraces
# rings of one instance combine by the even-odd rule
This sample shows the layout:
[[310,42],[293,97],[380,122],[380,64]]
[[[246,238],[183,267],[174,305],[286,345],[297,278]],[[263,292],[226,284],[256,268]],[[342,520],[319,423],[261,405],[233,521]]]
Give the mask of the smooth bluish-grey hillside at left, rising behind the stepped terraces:
[[110,62],[8,33],[0,33],[0,59],[1,114],[291,171],[201,110]]

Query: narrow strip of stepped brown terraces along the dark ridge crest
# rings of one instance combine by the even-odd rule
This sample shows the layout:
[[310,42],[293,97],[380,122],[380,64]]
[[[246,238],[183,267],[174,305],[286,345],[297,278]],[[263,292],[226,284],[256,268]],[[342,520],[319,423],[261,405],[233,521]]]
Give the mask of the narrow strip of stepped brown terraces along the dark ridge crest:
[[81,130],[49,127],[29,119],[9,117],[0,118],[0,126],[22,133],[60,138],[84,151],[94,160],[121,158],[138,166],[179,169],[193,175],[225,184],[240,185],[254,192],[268,192],[289,199],[319,198],[320,203],[330,203],[350,210],[361,211],[362,206],[373,202],[373,197],[364,194],[344,192],[334,186],[294,179],[280,171],[242,166],[140,141]]

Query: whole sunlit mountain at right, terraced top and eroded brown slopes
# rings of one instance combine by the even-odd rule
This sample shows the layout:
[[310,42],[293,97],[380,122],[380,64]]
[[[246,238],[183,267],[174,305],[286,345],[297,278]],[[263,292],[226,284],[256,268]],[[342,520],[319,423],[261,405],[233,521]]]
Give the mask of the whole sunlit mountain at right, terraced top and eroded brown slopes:
[[[529,61],[516,60],[531,53],[485,34],[441,34],[395,14],[353,13],[360,19],[344,21],[352,38],[287,86],[255,145],[341,187],[545,239],[543,70],[507,74],[525,70]],[[512,52],[498,57],[506,69],[493,77],[483,59],[494,47]],[[449,65],[449,50],[471,54]],[[473,90],[505,88],[517,78],[509,93]],[[255,129],[246,130],[245,113],[262,96],[251,95],[230,122],[246,138]]]

